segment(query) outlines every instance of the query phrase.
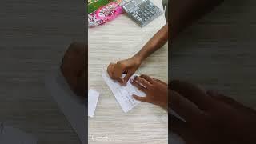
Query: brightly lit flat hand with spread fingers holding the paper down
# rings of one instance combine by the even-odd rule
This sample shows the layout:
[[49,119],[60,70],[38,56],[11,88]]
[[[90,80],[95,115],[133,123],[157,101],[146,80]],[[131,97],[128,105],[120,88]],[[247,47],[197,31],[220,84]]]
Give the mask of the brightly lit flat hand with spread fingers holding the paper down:
[[134,79],[130,79],[130,82],[146,94],[146,97],[133,95],[135,99],[141,102],[150,102],[167,110],[168,86],[165,82],[143,74],[139,77],[134,77]]

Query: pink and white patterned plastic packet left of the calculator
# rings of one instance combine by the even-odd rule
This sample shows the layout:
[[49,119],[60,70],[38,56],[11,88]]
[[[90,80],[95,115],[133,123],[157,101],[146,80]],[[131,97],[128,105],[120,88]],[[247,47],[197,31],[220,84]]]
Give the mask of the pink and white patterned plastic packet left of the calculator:
[[116,18],[122,12],[122,6],[118,5],[118,2],[110,2],[106,6],[102,6],[93,13],[88,14],[88,26],[102,25]]

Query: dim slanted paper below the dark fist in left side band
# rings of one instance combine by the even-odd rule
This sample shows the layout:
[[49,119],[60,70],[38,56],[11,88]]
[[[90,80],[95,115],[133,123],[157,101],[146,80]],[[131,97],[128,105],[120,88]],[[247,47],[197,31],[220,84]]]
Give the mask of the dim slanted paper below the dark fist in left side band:
[[46,78],[46,87],[50,90],[50,94],[57,102],[60,110],[62,110],[74,131],[78,134],[82,144],[85,144],[87,142],[85,102],[82,102],[82,99],[70,90],[70,86],[68,86],[60,71],[53,73],[55,74]]

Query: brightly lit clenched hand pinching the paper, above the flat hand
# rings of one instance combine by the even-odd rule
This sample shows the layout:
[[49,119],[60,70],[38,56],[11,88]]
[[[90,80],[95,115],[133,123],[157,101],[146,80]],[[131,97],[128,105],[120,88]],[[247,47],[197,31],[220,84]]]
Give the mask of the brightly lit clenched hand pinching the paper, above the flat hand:
[[[129,78],[135,73],[138,67],[141,65],[141,60],[136,57],[132,57],[126,60],[118,61],[117,63],[110,63],[107,67],[107,72],[110,78],[125,85]],[[126,73],[125,78],[122,78],[122,74]]]

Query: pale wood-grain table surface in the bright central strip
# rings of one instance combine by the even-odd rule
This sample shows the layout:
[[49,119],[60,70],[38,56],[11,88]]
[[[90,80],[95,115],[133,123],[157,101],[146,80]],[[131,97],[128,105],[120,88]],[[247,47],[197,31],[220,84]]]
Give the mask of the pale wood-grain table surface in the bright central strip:
[[[162,8],[162,1],[153,0]],[[88,30],[89,88],[100,98],[94,117],[89,118],[89,143],[168,143],[168,115],[165,110],[141,103],[124,113],[102,79],[102,70],[110,62],[130,58],[166,23],[164,14],[141,28],[126,14],[112,22]],[[167,44],[152,54],[137,74],[148,74],[167,82]]]

